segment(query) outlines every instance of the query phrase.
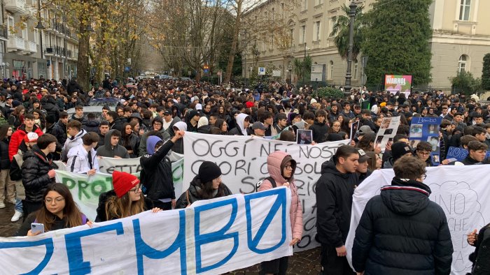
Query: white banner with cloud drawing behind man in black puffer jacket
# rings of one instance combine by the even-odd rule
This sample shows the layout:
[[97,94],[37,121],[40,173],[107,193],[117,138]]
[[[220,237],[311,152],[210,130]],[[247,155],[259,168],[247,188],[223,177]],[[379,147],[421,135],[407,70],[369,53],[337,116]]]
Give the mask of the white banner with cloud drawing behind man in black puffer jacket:
[[[490,165],[452,166],[427,168],[423,180],[432,193],[429,199],[436,202],[446,214],[454,253],[451,274],[464,275],[470,272],[472,263],[468,255],[475,250],[466,241],[472,230],[479,230],[490,221]],[[472,177],[468,177],[468,174]],[[351,227],[346,241],[347,258],[351,262],[351,251],[356,228],[367,201],[379,195],[382,186],[391,185],[395,176],[392,169],[374,171],[354,191]]]

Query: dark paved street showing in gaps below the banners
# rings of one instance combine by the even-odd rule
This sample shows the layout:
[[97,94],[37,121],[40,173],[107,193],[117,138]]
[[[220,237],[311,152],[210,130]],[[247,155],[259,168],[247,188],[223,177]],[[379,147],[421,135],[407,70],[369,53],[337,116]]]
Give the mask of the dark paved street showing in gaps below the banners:
[[[0,209],[0,237],[10,237],[22,224],[22,218],[17,223],[12,223],[10,218],[13,216],[13,205],[6,204],[6,208]],[[290,275],[316,275],[320,272],[320,250],[318,248],[309,251],[295,253],[289,259],[288,274]],[[258,274],[258,265],[240,269],[229,274],[236,275],[255,275]]]

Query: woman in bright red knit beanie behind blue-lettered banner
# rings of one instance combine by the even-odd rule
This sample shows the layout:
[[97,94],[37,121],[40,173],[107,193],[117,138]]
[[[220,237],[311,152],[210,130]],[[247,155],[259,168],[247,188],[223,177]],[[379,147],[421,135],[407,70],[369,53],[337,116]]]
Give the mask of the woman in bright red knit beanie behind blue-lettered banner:
[[[96,222],[126,218],[153,208],[153,202],[144,197],[139,179],[134,174],[114,171],[112,184],[114,190],[99,197]],[[160,208],[155,207],[152,211],[156,213]]]

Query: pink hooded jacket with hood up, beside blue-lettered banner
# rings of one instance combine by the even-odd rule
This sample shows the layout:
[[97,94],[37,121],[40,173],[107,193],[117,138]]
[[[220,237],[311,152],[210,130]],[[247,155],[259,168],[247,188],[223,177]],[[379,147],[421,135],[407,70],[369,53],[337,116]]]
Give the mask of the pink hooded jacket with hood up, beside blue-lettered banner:
[[[289,182],[289,188],[291,189],[291,207],[289,209],[290,219],[291,219],[291,230],[293,232],[293,238],[301,239],[303,235],[303,209],[300,202],[300,198],[297,195],[297,188],[295,185],[294,177],[289,180],[284,179],[282,176],[282,167],[290,161],[291,166],[293,166],[294,175],[296,168],[296,161],[291,158],[289,154],[283,151],[275,151],[269,154],[267,157],[267,172],[269,172],[270,177],[276,181],[276,186],[283,186],[286,182]],[[265,191],[272,188],[272,184],[269,180],[264,179],[258,191]]]

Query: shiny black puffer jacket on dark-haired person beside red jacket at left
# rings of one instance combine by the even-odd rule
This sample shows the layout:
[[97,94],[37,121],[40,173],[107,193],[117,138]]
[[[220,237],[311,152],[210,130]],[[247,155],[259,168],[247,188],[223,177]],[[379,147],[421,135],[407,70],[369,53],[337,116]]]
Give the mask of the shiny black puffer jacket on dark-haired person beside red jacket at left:
[[28,202],[42,202],[43,195],[48,184],[54,184],[55,178],[50,179],[48,172],[57,169],[52,163],[51,154],[46,157],[39,147],[34,145],[31,151],[27,151],[22,163],[22,184],[25,188],[25,200]]

